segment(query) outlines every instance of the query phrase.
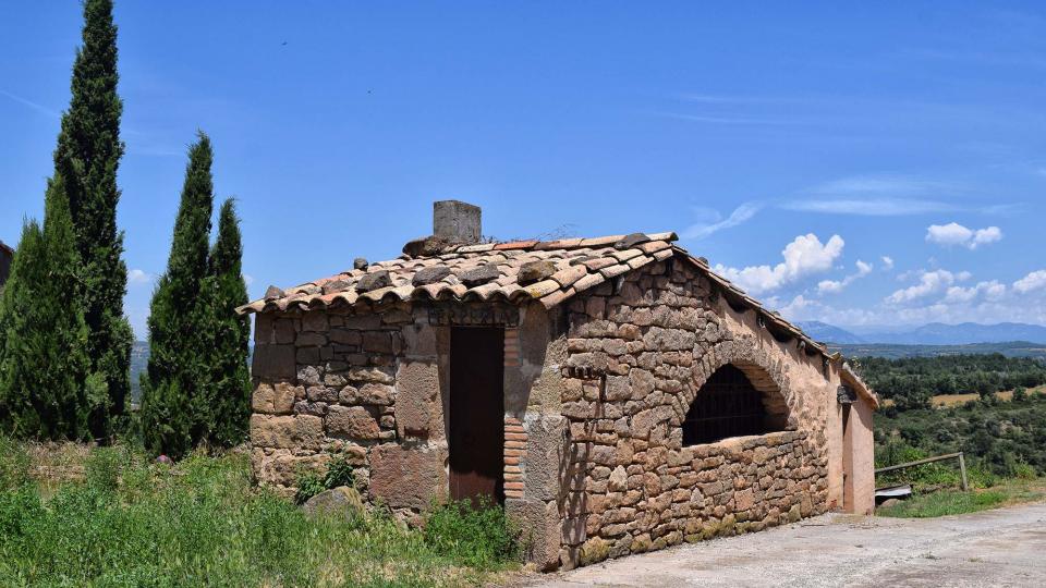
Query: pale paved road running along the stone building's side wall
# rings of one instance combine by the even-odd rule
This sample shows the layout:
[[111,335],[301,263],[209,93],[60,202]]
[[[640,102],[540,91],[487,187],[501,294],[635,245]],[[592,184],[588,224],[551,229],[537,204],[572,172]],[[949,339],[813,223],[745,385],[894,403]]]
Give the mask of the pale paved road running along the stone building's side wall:
[[1046,587],[1046,504],[932,519],[824,515],[524,584]]

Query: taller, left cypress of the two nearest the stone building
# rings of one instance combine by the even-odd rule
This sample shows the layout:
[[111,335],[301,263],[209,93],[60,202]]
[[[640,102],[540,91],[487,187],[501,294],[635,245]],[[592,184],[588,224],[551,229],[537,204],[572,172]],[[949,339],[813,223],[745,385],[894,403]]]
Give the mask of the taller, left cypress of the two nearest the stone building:
[[149,308],[149,363],[142,378],[142,432],[151,451],[179,457],[200,440],[210,397],[212,331],[208,241],[214,207],[210,139],[188,150],[174,236]]

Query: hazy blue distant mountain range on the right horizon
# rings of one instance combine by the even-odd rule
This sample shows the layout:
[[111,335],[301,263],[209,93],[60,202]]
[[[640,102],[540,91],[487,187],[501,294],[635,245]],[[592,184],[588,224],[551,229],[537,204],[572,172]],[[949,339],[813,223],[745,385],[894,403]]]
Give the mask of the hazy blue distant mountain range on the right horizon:
[[825,343],[889,345],[970,345],[1022,341],[1046,345],[1046,327],[1021,322],[978,324],[932,322],[922,327],[887,329],[865,327],[860,332],[840,329],[818,321],[798,323],[811,338]]

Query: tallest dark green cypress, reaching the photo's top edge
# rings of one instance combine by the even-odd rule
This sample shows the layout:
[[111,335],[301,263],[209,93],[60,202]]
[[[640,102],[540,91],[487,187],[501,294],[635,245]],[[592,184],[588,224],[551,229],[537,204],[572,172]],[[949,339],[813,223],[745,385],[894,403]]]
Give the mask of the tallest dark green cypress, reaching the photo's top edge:
[[83,47],[76,51],[72,100],[62,115],[54,168],[64,179],[75,226],[83,281],[80,305],[89,331],[88,372],[96,384],[107,388],[109,399],[90,415],[96,438],[111,434],[112,417],[124,413],[131,389],[133,333],[123,316],[127,268],[121,258],[123,233],[117,230],[117,169],[123,156],[123,102],[117,81],[112,0],[85,0]]

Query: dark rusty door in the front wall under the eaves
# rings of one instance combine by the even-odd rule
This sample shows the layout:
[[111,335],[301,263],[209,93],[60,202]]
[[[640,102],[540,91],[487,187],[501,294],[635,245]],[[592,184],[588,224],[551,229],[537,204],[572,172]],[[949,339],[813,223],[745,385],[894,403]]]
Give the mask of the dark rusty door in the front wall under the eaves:
[[504,330],[450,333],[450,497],[504,502]]

